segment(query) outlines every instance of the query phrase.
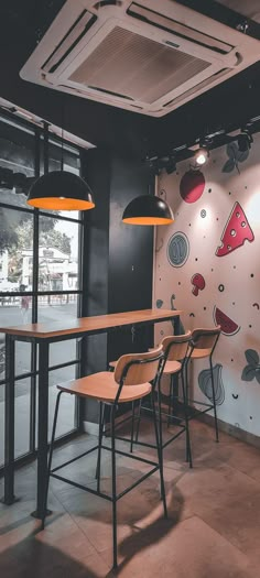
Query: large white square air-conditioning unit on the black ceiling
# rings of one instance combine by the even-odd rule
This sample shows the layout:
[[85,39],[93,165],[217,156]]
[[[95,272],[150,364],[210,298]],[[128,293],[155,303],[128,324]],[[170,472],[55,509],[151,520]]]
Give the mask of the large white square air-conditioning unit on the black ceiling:
[[259,58],[259,41],[173,0],[67,0],[20,75],[162,117]]

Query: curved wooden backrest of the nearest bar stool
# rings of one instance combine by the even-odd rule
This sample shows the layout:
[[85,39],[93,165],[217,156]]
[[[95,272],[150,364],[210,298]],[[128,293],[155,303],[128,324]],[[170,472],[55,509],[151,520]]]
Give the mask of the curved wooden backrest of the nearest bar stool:
[[115,381],[123,385],[140,385],[153,381],[163,359],[162,346],[145,353],[128,353],[121,356],[115,368]]

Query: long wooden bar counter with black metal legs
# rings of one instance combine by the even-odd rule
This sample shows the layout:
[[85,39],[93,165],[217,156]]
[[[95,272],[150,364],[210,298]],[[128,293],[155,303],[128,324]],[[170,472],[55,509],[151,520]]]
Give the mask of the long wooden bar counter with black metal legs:
[[[34,515],[42,517],[44,509],[44,480],[47,468],[47,423],[48,423],[48,357],[50,343],[89,335],[107,332],[115,328],[172,320],[175,334],[180,334],[180,310],[143,309],[115,313],[95,317],[80,317],[66,323],[46,323],[0,327],[6,334],[6,455],[4,498],[12,504],[14,497],[14,361],[15,341],[36,342],[39,346],[39,430],[37,430],[37,497]],[[127,352],[127,351],[126,351]]]

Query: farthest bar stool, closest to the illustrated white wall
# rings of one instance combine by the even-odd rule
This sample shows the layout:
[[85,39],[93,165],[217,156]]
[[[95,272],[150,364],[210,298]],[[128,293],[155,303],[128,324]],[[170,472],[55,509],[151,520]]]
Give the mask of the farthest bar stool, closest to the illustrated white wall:
[[[189,415],[188,419],[193,419],[199,413],[204,414],[204,413],[209,412],[210,410],[214,410],[216,441],[218,441],[219,439],[218,439],[218,423],[217,423],[217,407],[216,407],[216,390],[215,390],[214,373],[213,373],[213,353],[218,342],[220,331],[221,331],[220,325],[215,326],[214,328],[210,328],[210,329],[206,329],[206,328],[194,329],[192,331],[188,361],[185,367],[187,404],[188,406],[189,406],[189,403],[192,403],[192,405],[196,404],[196,405],[201,405],[205,407],[205,410],[203,411],[192,407],[193,414]],[[187,370],[188,370],[189,362],[192,360],[195,361],[196,359],[206,359],[206,358],[209,361],[210,381],[212,381],[212,389],[213,389],[213,403],[210,404],[198,402],[197,400],[189,397],[189,386],[188,386],[188,379],[187,379]]]

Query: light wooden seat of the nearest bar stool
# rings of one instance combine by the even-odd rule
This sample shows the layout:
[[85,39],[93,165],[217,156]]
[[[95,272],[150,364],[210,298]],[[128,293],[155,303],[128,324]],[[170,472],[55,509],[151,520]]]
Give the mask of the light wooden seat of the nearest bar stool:
[[[113,403],[118,392],[118,383],[115,381],[115,373],[101,371],[86,378],[63,383],[57,385],[57,389],[79,395],[80,397],[93,397],[100,402]],[[151,393],[151,389],[152,386],[148,382],[139,385],[124,386],[119,395],[118,403],[140,400]]]

